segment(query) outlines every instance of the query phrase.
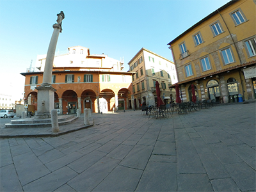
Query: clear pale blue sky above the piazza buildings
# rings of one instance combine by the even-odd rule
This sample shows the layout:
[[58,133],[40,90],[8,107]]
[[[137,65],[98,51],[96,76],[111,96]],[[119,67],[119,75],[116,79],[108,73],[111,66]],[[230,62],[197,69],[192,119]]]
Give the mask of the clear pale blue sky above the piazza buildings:
[[3,1],[0,91],[8,91],[11,84],[17,99],[22,98],[24,77],[20,72],[26,72],[31,60],[35,67],[36,56],[47,53],[52,24],[61,10],[65,19],[56,51],[81,45],[91,54],[104,53],[116,60],[124,57],[127,71],[127,63],[142,47],[173,61],[167,44],[228,1]]

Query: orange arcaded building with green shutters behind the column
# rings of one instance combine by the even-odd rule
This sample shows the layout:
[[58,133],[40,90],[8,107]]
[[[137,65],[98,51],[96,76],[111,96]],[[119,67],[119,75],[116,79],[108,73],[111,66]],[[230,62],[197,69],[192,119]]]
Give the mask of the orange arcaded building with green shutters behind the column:
[[[21,73],[26,77],[24,99],[37,109],[37,90],[43,81],[46,55],[37,57],[38,72]],[[123,61],[106,54],[90,54],[86,47],[68,47],[54,57],[52,87],[54,108],[61,115],[90,108],[92,113],[131,109],[132,73],[123,72]]]

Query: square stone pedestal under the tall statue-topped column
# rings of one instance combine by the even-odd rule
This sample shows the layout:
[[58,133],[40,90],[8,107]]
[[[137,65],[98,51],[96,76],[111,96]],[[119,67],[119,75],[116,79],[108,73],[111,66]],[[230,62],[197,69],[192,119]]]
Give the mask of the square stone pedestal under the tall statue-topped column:
[[37,93],[37,114],[36,119],[51,118],[51,110],[54,109],[54,89],[51,84],[42,84],[36,87]]

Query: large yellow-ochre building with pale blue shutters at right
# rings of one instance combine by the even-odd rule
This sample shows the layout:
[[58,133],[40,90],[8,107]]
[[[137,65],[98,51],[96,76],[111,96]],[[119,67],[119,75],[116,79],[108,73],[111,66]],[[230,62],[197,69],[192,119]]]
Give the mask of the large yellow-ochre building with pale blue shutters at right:
[[168,44],[184,102],[191,84],[198,100],[256,99],[255,12],[255,0],[230,1]]

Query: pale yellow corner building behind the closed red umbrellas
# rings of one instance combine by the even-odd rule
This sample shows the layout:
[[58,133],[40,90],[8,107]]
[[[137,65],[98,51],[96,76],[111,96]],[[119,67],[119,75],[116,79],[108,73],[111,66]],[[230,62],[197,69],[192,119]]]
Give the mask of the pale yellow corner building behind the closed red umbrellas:
[[172,83],[177,83],[177,73],[172,61],[163,58],[159,54],[141,48],[140,51],[128,63],[132,75],[132,106],[140,108],[143,102],[149,106],[155,106],[156,81],[161,90],[161,99],[164,103],[175,100],[174,90],[170,90]]

